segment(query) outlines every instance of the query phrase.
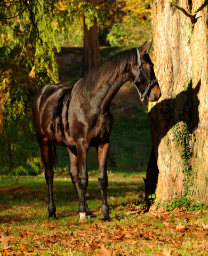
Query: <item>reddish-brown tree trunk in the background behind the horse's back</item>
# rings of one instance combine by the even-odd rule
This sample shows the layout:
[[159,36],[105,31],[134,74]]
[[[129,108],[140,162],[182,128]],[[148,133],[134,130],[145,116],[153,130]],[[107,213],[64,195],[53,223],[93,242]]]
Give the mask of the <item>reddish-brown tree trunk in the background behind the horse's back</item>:
[[[95,0],[85,0],[95,6]],[[84,77],[89,71],[100,64],[100,49],[98,41],[98,27],[97,20],[94,18],[94,25],[87,29],[85,18],[83,17],[83,29],[84,29],[84,52],[83,62],[80,75]]]

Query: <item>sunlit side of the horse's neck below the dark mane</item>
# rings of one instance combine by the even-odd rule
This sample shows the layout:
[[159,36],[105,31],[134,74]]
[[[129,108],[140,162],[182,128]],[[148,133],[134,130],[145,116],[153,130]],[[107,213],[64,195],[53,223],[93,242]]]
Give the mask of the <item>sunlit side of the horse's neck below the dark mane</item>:
[[121,86],[127,81],[129,81],[129,74],[125,73],[119,76],[114,83],[111,83],[109,80],[100,87],[93,99],[94,102],[92,102],[94,106],[97,105],[99,107],[100,114],[106,114],[109,110],[110,102]]

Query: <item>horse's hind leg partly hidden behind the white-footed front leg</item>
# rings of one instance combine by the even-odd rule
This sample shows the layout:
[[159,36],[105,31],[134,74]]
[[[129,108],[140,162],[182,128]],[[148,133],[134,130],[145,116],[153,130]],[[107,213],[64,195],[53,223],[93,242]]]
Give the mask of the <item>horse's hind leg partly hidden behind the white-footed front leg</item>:
[[[70,176],[71,176],[71,181],[73,182],[75,189],[76,189],[76,193],[78,196],[78,199],[80,201],[81,199],[81,190],[79,189],[79,172],[78,172],[78,165],[77,165],[77,156],[74,155],[71,150],[69,148],[67,148],[69,151],[69,157],[70,157]],[[86,216],[92,216],[91,211],[89,210],[87,203],[85,202],[85,207],[86,207]],[[86,219],[83,218],[82,222],[85,222]]]

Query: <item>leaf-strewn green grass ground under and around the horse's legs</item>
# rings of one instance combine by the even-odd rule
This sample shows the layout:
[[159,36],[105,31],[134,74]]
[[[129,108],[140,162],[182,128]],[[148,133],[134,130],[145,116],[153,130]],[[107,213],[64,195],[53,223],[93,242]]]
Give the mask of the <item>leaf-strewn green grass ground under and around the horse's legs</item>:
[[77,197],[68,176],[54,177],[58,220],[47,219],[43,175],[3,177],[0,255],[208,255],[207,212],[151,208],[145,212],[143,175],[109,173],[108,177],[112,220],[101,220],[94,171],[89,174],[86,199],[95,218],[86,225],[78,225]]

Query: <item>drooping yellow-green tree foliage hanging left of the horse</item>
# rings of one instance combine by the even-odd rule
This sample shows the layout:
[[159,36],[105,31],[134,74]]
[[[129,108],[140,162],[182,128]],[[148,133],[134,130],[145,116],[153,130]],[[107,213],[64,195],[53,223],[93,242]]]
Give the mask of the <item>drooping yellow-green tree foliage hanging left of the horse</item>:
[[17,174],[26,172],[23,162],[35,167],[34,154],[21,148],[20,141],[31,140],[33,134],[34,95],[44,85],[59,81],[56,35],[61,31],[68,38],[69,28],[81,13],[87,26],[92,26],[100,12],[79,0],[4,0],[0,10],[0,171],[9,162],[9,171]]

